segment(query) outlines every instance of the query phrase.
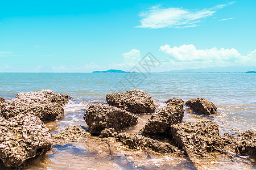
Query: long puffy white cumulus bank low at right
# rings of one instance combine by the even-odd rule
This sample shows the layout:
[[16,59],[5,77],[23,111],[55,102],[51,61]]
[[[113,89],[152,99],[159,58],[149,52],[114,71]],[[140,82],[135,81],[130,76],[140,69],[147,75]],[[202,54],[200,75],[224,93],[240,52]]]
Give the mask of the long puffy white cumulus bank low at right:
[[221,65],[228,66],[234,64],[252,65],[256,64],[256,50],[249,52],[245,56],[239,53],[236,49],[199,49],[194,45],[181,45],[179,47],[170,45],[160,46],[160,52],[168,54],[170,62],[185,62],[201,65]]

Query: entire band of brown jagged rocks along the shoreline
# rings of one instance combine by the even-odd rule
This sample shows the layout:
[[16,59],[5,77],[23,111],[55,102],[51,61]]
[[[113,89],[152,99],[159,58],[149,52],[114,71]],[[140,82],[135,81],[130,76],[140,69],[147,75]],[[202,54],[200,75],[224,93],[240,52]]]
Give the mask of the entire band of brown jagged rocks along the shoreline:
[[[72,125],[50,134],[44,123],[63,118],[68,99],[71,97],[51,90],[22,92],[8,102],[0,97],[0,159],[7,168],[20,167],[53,145],[73,142],[99,143],[99,147],[117,151],[126,146],[130,150],[173,154],[188,158],[195,165],[220,156],[256,156],[254,130],[221,136],[213,121],[183,121],[184,105],[197,114],[218,114],[217,107],[204,98],[187,102],[172,98],[157,109],[152,97],[142,90],[107,94],[108,104],[86,104],[86,128]],[[140,131],[122,132],[136,125],[138,114],[142,113],[150,113],[151,117]]]

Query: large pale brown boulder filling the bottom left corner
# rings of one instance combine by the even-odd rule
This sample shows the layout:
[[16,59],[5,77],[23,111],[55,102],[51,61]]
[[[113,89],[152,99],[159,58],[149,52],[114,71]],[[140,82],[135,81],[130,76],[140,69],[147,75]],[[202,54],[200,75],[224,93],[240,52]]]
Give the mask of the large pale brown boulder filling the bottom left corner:
[[51,150],[52,139],[46,126],[32,114],[0,117],[0,159],[7,168]]

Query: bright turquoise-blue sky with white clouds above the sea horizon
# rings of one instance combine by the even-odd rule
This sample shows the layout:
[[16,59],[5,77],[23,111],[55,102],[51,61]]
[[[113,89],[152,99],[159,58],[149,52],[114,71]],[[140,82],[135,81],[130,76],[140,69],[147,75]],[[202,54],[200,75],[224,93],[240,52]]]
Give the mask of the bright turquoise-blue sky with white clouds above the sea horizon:
[[0,1],[0,72],[256,65],[256,1]]

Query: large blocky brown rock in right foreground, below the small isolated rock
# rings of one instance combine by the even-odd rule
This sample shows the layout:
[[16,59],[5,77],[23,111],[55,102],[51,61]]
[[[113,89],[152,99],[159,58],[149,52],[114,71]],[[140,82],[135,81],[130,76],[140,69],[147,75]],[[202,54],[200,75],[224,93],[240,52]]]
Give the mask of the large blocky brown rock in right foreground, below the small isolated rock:
[[189,159],[208,158],[208,152],[222,152],[223,142],[213,121],[181,122],[171,125],[170,136]]

